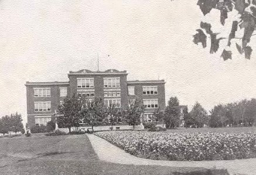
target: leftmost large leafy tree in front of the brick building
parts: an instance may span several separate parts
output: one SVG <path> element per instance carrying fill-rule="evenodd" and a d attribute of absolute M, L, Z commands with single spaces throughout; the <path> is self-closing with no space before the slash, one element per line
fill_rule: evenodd
<path fill-rule="evenodd" d="M 58 108 L 57 124 L 69 128 L 69 132 L 71 132 L 71 127 L 79 125 L 80 111 L 85 103 L 86 100 L 78 99 L 75 95 L 65 97 L 63 103 Z"/>

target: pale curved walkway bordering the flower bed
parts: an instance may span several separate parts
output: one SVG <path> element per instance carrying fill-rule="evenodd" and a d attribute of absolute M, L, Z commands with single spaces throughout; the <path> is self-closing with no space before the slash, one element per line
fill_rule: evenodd
<path fill-rule="evenodd" d="M 236 159 L 236 160 L 211 160 L 211 161 L 168 161 L 151 160 L 132 156 L 124 150 L 112 145 L 105 139 L 87 134 L 91 145 L 100 160 L 120 164 L 135 165 L 158 165 L 172 167 L 204 167 L 207 169 L 227 169 L 230 174 L 256 174 L 256 159 Z"/>

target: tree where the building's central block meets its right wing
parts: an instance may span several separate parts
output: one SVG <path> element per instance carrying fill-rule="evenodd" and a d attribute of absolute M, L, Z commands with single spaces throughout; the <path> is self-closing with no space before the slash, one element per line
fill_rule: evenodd
<path fill-rule="evenodd" d="M 129 125 L 139 124 L 141 121 L 141 115 L 144 113 L 144 105 L 141 100 L 129 100 L 128 108 L 125 112 L 125 121 L 129 123 Z"/>

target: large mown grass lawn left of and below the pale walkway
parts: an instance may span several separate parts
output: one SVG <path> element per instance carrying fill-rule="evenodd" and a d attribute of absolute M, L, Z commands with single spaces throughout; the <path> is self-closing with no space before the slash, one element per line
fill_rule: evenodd
<path fill-rule="evenodd" d="M 95 154 L 87 135 L 33 134 L 31 137 L 0 139 L 0 174 L 196 175 L 211 173 L 202 168 L 134 166 L 103 162 Z M 221 173 L 216 170 L 213 174 Z"/>

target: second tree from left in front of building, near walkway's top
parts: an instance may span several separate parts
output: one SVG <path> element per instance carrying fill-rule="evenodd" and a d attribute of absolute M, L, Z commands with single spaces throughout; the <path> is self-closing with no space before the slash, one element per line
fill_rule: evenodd
<path fill-rule="evenodd" d="M 93 101 L 87 101 L 86 106 L 81 108 L 80 115 L 83 121 L 91 125 L 91 129 L 103 124 L 105 117 L 107 117 L 103 99 L 95 98 Z"/>

